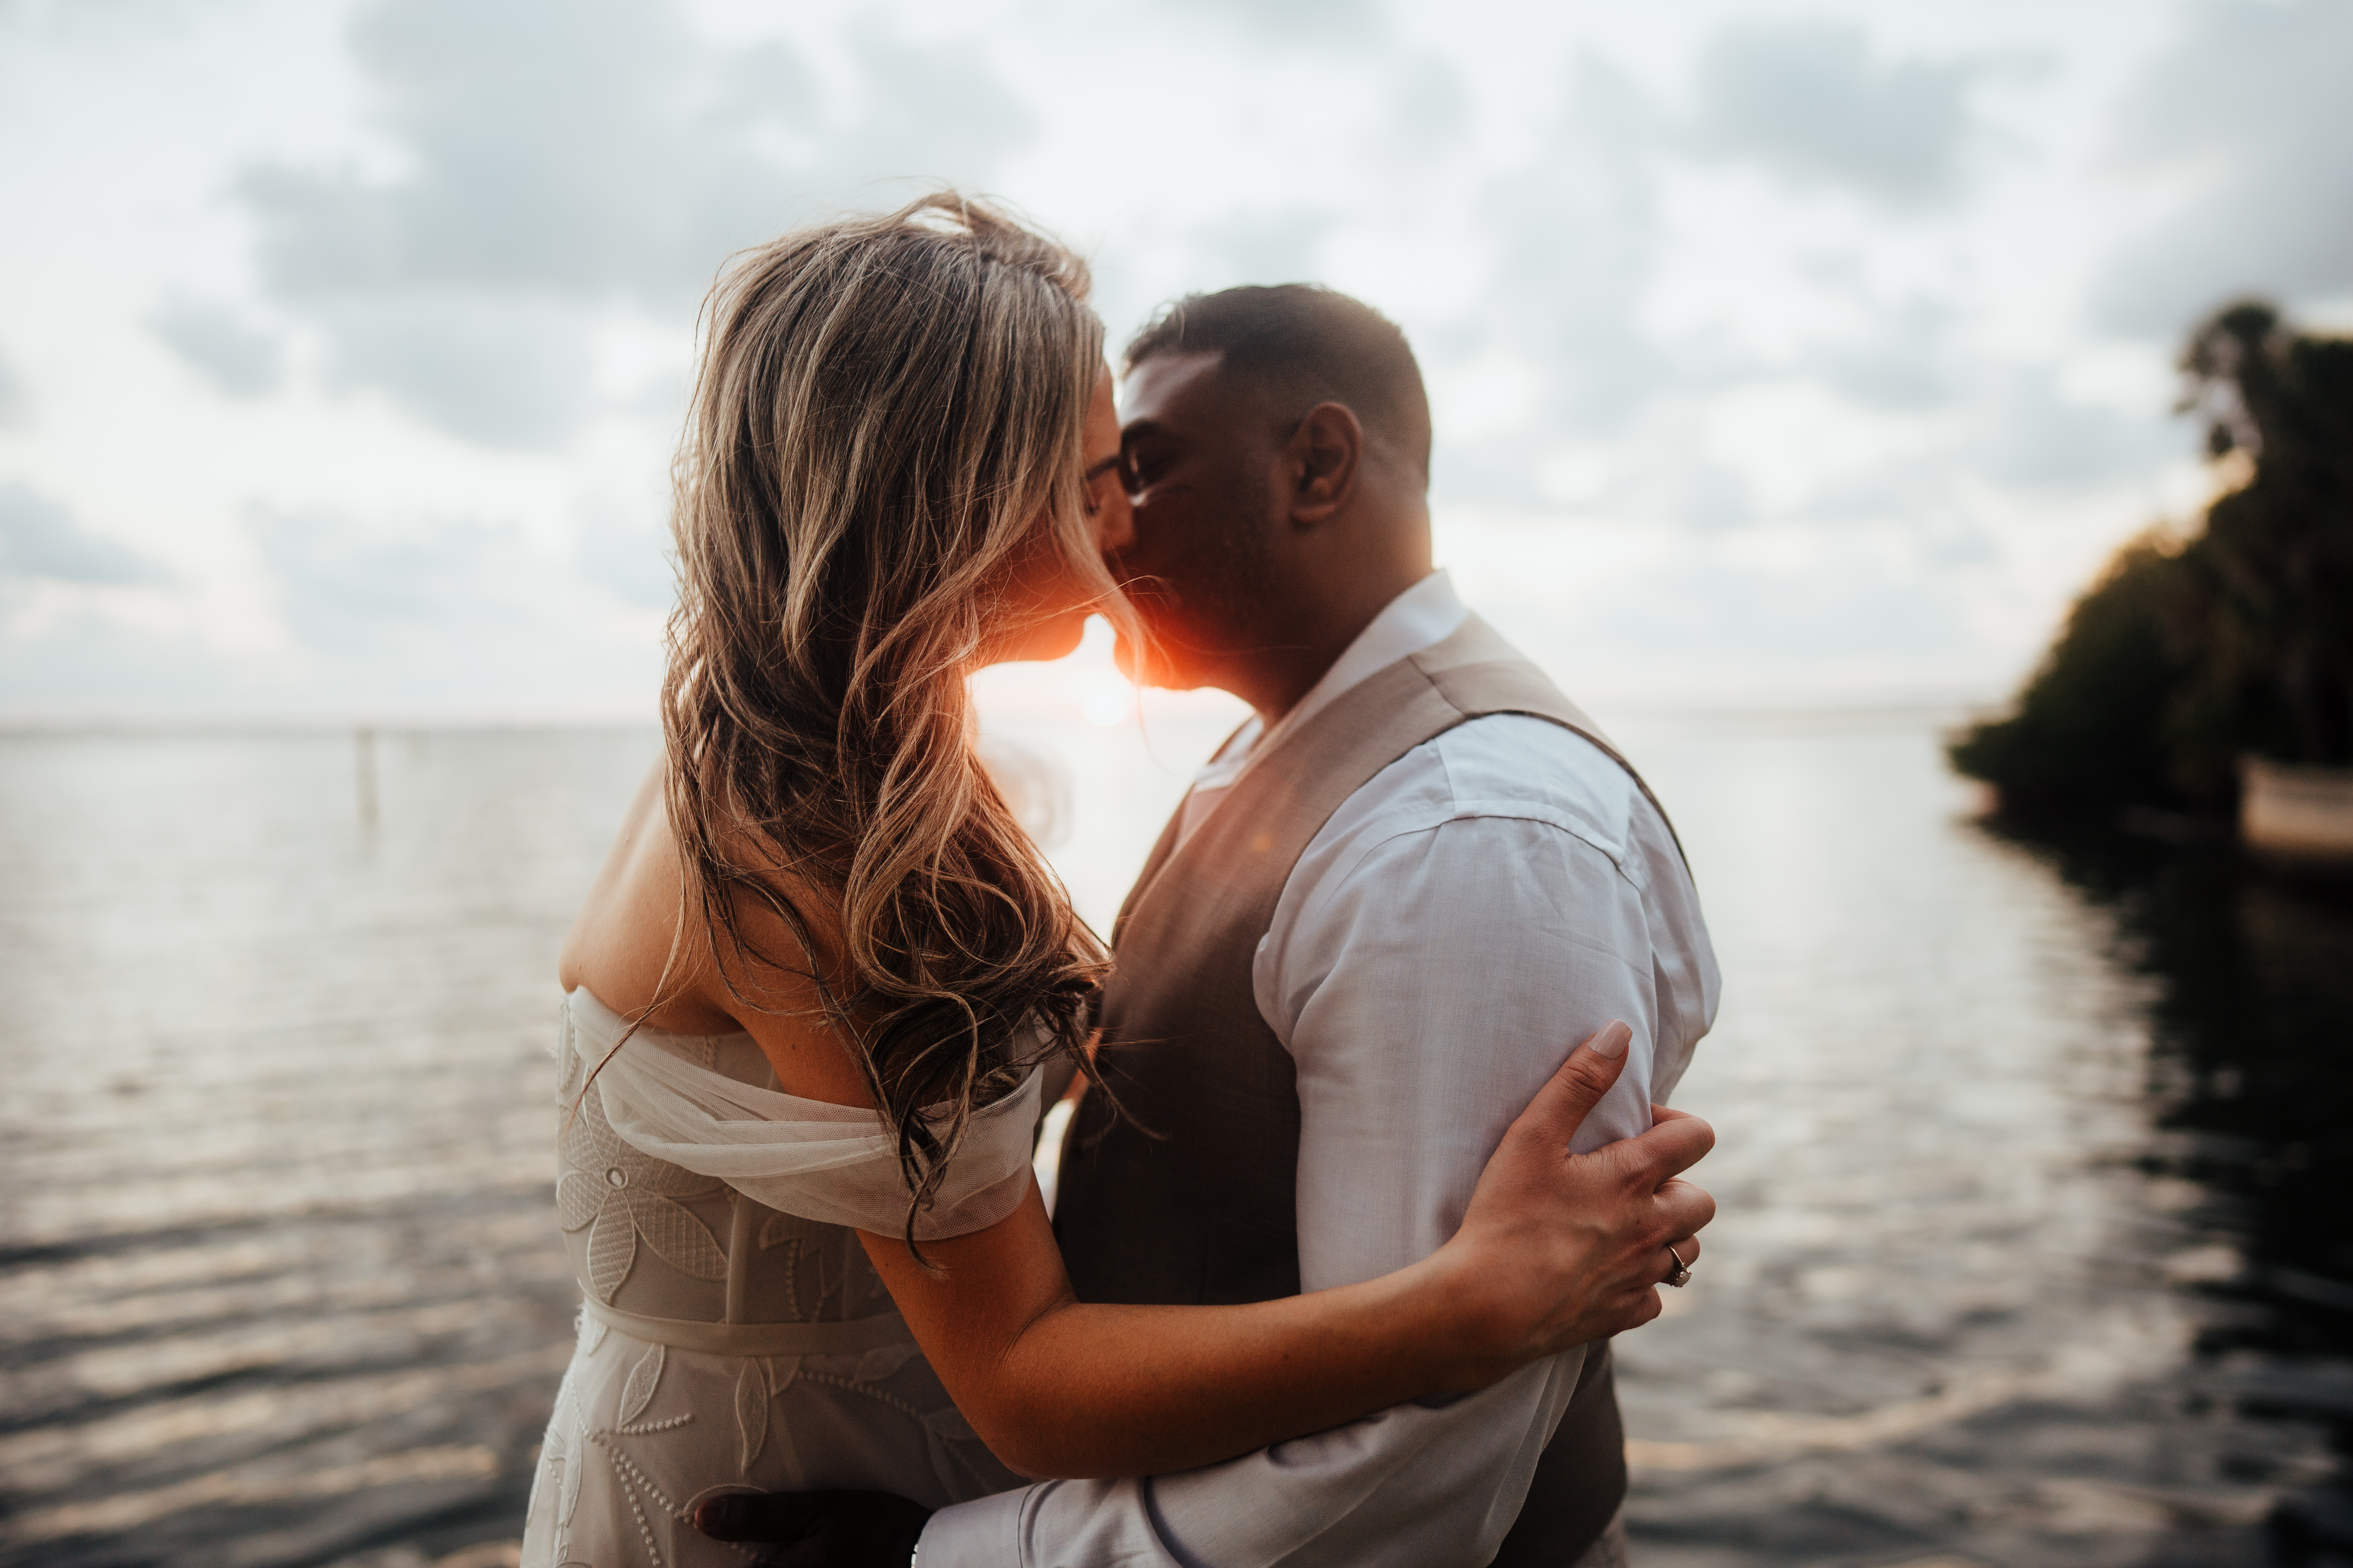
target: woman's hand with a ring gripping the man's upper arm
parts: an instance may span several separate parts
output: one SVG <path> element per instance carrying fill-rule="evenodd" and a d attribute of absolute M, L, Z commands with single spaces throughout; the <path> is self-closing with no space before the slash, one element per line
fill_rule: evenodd
<path fill-rule="evenodd" d="M 1654 1126 L 1640 1138 L 1569 1154 L 1626 1070 L 1631 1039 L 1612 1023 L 1569 1051 L 1504 1133 L 1461 1229 L 1431 1260 L 1454 1272 L 1466 1347 L 1478 1347 L 1464 1387 L 1647 1324 L 1675 1255 L 1699 1258 L 1697 1232 L 1715 1218 L 1715 1199 L 1680 1173 L 1715 1147 L 1715 1128 L 1652 1105 Z"/>

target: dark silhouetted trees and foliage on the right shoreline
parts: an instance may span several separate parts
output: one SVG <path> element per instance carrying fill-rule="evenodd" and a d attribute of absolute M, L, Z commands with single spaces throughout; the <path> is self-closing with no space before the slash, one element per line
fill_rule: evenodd
<path fill-rule="evenodd" d="M 1953 741 L 2012 809 L 2217 809 L 2245 752 L 2353 764 L 2353 341 L 2238 303 L 2181 369 L 2245 482 L 2179 550 L 2127 545 L 2017 712 Z"/>

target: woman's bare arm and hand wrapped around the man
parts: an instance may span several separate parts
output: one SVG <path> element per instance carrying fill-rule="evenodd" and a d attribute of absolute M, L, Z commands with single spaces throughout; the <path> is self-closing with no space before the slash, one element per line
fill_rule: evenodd
<path fill-rule="evenodd" d="M 1028 1476 L 1193 1469 L 1372 1410 L 1473 1389 L 1659 1314 L 1666 1244 L 1713 1218 L 1675 1180 L 1713 1145 L 1694 1117 L 1567 1154 L 1624 1067 L 1609 1025 L 1546 1084 L 1487 1164 L 1461 1232 L 1381 1279 L 1238 1307 L 1082 1305 L 1038 1192 L 969 1237 L 861 1232 L 955 1406 Z"/>

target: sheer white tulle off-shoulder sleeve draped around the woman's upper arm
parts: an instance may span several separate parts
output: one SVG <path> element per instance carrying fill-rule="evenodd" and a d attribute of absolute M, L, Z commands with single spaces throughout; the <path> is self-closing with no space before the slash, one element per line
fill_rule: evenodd
<path fill-rule="evenodd" d="M 715 1175 L 769 1208 L 896 1237 L 908 1190 L 882 1119 L 852 1105 L 802 1100 L 699 1067 L 659 1041 L 631 1037 L 598 1072 L 612 1131 L 635 1150 Z M 1040 1074 L 972 1112 L 962 1147 L 915 1239 L 988 1229 L 1028 1194 Z"/>

